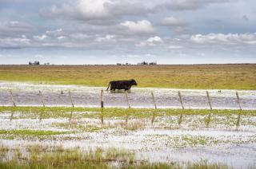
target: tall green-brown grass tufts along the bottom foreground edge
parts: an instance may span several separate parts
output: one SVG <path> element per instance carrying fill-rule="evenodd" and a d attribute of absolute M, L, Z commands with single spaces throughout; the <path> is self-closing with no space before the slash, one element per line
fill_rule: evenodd
<path fill-rule="evenodd" d="M 134 158 L 134 152 L 125 149 L 97 147 L 94 151 L 81 151 L 79 148 L 34 146 L 29 151 L 16 151 L 10 160 L 0 159 L 0 168 L 228 168 L 222 163 L 207 163 L 201 160 L 194 163 L 149 163 Z M 13 150 L 12 150 L 13 151 Z M 5 151 L 7 153 L 8 151 Z M 23 155 L 29 154 L 29 155 Z M 22 160 L 21 160 L 22 159 Z"/>

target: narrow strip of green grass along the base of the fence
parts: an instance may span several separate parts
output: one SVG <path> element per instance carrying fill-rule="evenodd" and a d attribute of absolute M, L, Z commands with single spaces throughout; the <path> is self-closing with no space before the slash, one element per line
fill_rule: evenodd
<path fill-rule="evenodd" d="M 0 107 L 1 112 L 14 112 L 15 118 L 70 118 L 70 112 L 73 111 L 73 118 L 122 118 L 126 119 L 127 116 L 130 118 L 150 118 L 153 115 L 157 116 L 174 116 L 180 115 L 208 115 L 210 110 L 208 109 L 152 109 L 152 108 L 66 108 L 66 107 Z M 24 112 L 22 116 L 15 117 L 15 112 Z M 82 113 L 77 113 L 82 112 Z M 86 113 L 94 112 L 94 113 Z M 211 113 L 214 115 L 251 115 L 256 116 L 256 110 L 212 110 Z"/>

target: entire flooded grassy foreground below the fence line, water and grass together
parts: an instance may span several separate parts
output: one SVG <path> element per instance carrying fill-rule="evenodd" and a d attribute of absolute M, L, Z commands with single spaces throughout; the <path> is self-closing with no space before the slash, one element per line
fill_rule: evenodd
<path fill-rule="evenodd" d="M 255 118 L 248 110 L 0 107 L 0 168 L 255 168 Z"/>

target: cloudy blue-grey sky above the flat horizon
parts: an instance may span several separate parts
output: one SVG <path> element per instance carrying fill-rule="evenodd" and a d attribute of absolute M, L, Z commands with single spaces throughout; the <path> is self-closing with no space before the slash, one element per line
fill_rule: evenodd
<path fill-rule="evenodd" d="M 0 64 L 256 63 L 254 0 L 0 0 Z"/>

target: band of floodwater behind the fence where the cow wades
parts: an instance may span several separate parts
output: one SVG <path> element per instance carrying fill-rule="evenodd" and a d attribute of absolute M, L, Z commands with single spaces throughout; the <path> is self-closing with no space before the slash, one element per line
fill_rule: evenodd
<path fill-rule="evenodd" d="M 10 90 L 12 91 L 13 98 Z M 78 85 L 35 85 L 18 82 L 0 82 L 0 105 L 10 106 L 71 106 L 100 107 L 101 90 L 104 107 L 127 108 L 210 108 L 213 109 L 256 109 L 256 90 L 206 90 L 176 88 L 132 88 L 128 92 L 110 92 L 101 87 Z M 41 91 L 42 95 L 39 93 Z M 182 104 L 178 91 L 181 93 Z M 154 93 L 154 99 L 152 96 Z M 14 103 L 13 103 L 14 102 Z"/>

